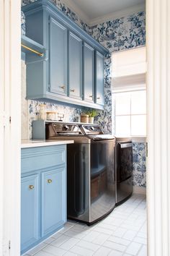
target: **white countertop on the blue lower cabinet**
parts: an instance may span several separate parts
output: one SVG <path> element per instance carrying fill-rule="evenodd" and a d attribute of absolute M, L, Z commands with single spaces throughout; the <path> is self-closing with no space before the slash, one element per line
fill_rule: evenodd
<path fill-rule="evenodd" d="M 22 140 L 21 148 L 46 147 L 53 145 L 72 144 L 73 140 Z"/>

